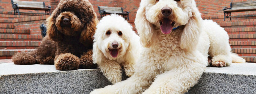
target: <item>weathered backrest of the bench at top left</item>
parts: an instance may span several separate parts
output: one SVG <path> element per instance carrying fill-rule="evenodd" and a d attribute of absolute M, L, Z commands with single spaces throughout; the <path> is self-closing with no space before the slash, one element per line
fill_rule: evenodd
<path fill-rule="evenodd" d="M 13 0 L 13 4 L 18 4 L 18 7 L 44 8 L 44 2 Z"/>

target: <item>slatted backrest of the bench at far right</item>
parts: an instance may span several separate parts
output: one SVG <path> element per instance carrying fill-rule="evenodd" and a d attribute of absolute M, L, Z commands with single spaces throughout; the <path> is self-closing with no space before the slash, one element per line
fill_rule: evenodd
<path fill-rule="evenodd" d="M 232 9 L 256 9 L 256 1 L 234 2 Z"/>

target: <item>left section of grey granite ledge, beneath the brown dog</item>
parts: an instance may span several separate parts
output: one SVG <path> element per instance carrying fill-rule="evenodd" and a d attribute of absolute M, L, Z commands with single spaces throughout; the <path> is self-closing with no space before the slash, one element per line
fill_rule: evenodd
<path fill-rule="evenodd" d="M 58 71 L 54 65 L 0 64 L 0 94 L 88 94 L 109 84 L 99 69 Z"/>

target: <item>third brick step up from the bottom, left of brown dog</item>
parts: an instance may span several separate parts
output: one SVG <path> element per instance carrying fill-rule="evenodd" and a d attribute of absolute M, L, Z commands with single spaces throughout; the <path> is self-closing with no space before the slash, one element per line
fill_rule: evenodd
<path fill-rule="evenodd" d="M 9 41 L 8 39 L 37 39 L 41 40 L 42 36 L 41 35 L 24 35 L 24 34 L 0 34 L 0 41 Z M 36 40 L 36 41 L 37 41 Z"/>

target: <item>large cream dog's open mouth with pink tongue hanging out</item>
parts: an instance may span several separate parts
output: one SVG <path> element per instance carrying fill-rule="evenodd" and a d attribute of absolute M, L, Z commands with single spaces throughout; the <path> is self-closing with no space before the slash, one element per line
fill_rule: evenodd
<path fill-rule="evenodd" d="M 163 34 L 170 34 L 172 32 L 175 22 L 170 20 L 169 18 L 163 18 L 159 21 L 159 24 Z"/>

